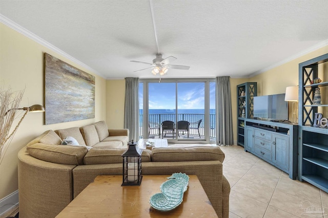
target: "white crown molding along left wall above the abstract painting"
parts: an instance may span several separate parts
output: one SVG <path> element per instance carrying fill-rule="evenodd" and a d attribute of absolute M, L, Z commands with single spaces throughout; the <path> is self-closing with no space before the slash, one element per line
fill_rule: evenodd
<path fill-rule="evenodd" d="M 32 39 L 33 41 L 39 43 L 40 45 L 58 53 L 61 56 L 64 56 L 65 58 L 77 63 L 79 66 L 88 69 L 89 71 L 97 74 L 98 76 L 101 76 L 105 79 L 104 75 L 101 75 L 99 72 L 94 70 L 93 68 L 90 68 L 87 64 L 77 60 L 76 58 L 72 57 L 71 55 L 67 54 L 66 52 L 58 49 L 48 41 L 44 40 L 43 38 L 40 38 L 39 36 L 35 35 L 34 33 L 30 32 L 29 30 L 25 29 L 24 27 L 16 24 L 14 21 L 9 19 L 8 17 L 4 16 L 3 14 L 0 13 L 0 23 L 3 23 L 4 25 L 10 27 L 11 29 L 19 32 L 20 34 L 23 34 L 27 36 L 28 38 Z"/>

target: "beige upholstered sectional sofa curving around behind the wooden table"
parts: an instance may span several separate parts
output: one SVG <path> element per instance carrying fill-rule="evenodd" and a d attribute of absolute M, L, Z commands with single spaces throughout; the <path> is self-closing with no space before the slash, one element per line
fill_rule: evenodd
<path fill-rule="evenodd" d="M 62 145 L 68 136 L 78 145 Z M 128 136 L 128 129 L 108 129 L 99 121 L 47 130 L 32 140 L 18 152 L 19 217 L 55 217 L 96 176 L 121 175 Z M 228 217 L 230 185 L 222 175 L 223 160 L 219 147 L 146 149 L 142 174 L 197 175 L 218 217 Z"/>

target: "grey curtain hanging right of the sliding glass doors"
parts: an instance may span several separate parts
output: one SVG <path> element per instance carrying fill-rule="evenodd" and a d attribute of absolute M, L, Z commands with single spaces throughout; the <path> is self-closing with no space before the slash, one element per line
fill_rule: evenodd
<path fill-rule="evenodd" d="M 230 77 L 216 77 L 216 144 L 233 145 Z"/>

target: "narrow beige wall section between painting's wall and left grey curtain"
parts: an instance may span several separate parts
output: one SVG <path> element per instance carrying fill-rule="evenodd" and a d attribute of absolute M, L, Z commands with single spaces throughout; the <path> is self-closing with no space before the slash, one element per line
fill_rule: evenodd
<path fill-rule="evenodd" d="M 108 128 L 124 128 L 125 79 L 107 80 Z"/>

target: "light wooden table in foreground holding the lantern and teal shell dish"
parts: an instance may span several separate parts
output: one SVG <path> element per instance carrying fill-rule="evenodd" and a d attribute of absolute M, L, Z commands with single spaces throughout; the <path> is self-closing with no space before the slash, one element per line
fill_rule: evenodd
<path fill-rule="evenodd" d="M 169 176 L 143 176 L 140 186 L 121 186 L 122 176 L 98 176 L 56 217 L 218 217 L 193 175 L 177 208 L 168 212 L 153 209 L 150 197 L 160 192 L 159 186 Z"/>

